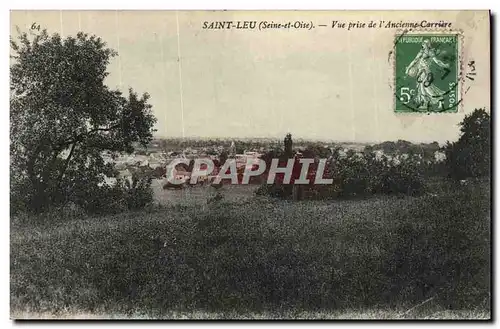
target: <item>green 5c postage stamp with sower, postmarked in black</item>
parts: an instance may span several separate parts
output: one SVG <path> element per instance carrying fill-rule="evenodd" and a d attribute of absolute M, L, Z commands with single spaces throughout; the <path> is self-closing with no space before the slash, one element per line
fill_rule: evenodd
<path fill-rule="evenodd" d="M 461 102 L 460 35 L 407 33 L 395 39 L 396 113 L 456 113 Z"/>

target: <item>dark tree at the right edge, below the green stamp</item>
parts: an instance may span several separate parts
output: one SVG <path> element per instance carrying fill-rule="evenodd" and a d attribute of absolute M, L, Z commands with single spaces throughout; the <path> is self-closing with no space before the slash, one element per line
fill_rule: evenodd
<path fill-rule="evenodd" d="M 460 122 L 460 138 L 444 146 L 446 167 L 451 177 L 486 177 L 490 175 L 490 115 L 476 109 Z"/>

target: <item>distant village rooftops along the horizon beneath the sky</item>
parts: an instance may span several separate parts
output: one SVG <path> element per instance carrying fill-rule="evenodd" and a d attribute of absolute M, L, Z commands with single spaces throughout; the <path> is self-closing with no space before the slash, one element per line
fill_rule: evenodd
<path fill-rule="evenodd" d="M 414 144 L 407 141 L 383 142 L 380 144 L 366 143 L 333 143 L 333 142 L 310 142 L 301 141 L 295 143 L 294 149 L 300 154 L 311 144 L 317 148 L 324 148 L 333 152 L 337 149 L 340 154 L 354 151 L 361 154 L 364 150 L 374 151 L 377 156 L 390 155 L 395 161 L 407 157 L 408 149 L 417 150 L 422 161 L 441 162 L 445 155 L 440 151 L 439 144 L 421 143 Z M 180 140 L 180 139 L 155 139 L 146 148 L 137 147 L 131 154 L 112 156 L 105 154 L 104 159 L 108 163 L 114 163 L 117 171 L 116 177 L 106 177 L 107 184 L 116 183 L 117 178 L 130 179 L 134 174 L 150 174 L 155 180 L 165 180 L 166 166 L 174 159 L 211 159 L 218 162 L 223 157 L 232 158 L 236 162 L 238 171 L 244 169 L 248 164 L 257 163 L 267 152 L 279 148 L 280 141 L 272 140 Z M 340 150 L 339 150 L 340 148 Z M 420 152 L 421 150 L 421 152 Z M 177 170 L 176 176 L 180 179 L 189 179 L 190 172 L 187 167 Z"/>

